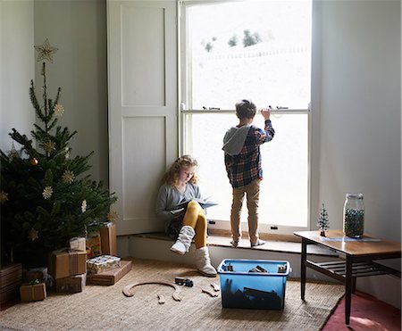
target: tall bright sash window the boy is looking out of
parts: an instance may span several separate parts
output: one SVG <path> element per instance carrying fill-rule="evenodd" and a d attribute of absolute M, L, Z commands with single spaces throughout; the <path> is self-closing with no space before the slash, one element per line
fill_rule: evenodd
<path fill-rule="evenodd" d="M 219 203 L 208 211 L 211 227 L 230 228 L 222 138 L 238 123 L 234 104 L 246 98 L 272 106 L 276 131 L 261 146 L 260 231 L 308 228 L 312 2 L 181 4 L 182 152 L 197 158 L 203 195 Z M 264 127 L 263 117 L 254 123 Z"/>

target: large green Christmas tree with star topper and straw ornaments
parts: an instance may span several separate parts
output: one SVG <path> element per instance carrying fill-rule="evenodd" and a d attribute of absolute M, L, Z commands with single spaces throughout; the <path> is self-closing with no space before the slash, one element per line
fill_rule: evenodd
<path fill-rule="evenodd" d="M 47 39 L 35 46 L 38 61 L 53 62 L 57 48 Z M 2 262 L 24 265 L 46 263 L 47 254 L 69 246 L 71 237 L 85 236 L 99 229 L 106 219 L 115 220 L 110 211 L 117 200 L 103 183 L 86 175 L 91 166 L 86 156 L 70 157 L 71 138 L 77 131 L 57 126 L 64 108 L 60 103 L 61 88 L 54 100 L 47 97 L 46 62 L 42 63 L 42 98 L 38 102 L 31 80 L 29 97 L 37 115 L 30 132 L 33 139 L 15 128 L 9 134 L 13 147 L 9 153 L 0 150 L 1 161 L 1 248 Z M 17 151 L 14 142 L 21 145 Z"/>

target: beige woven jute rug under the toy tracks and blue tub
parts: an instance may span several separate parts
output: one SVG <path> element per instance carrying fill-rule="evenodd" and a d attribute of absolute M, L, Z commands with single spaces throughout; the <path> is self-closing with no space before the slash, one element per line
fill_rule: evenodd
<path fill-rule="evenodd" d="M 193 287 L 140 285 L 126 297 L 126 285 L 144 281 L 174 282 L 188 277 Z M 133 260 L 129 274 L 112 286 L 87 285 L 79 294 L 49 294 L 42 302 L 20 303 L 0 311 L 0 329 L 13 330 L 320 330 L 344 294 L 342 285 L 307 283 L 306 301 L 300 283 L 287 280 L 284 310 L 222 309 L 221 293 L 201 291 L 220 285 L 219 277 L 202 277 L 191 266 Z M 165 302 L 158 303 L 158 294 Z"/>

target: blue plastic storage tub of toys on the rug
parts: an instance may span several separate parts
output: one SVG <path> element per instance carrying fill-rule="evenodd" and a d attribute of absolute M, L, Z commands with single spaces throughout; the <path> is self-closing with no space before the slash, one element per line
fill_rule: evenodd
<path fill-rule="evenodd" d="M 222 308 L 283 310 L 289 261 L 223 260 Z"/>

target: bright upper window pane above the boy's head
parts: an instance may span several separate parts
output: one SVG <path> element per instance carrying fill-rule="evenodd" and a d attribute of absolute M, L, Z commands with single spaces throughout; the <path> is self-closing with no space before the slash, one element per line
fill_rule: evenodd
<path fill-rule="evenodd" d="M 194 5 L 187 19 L 189 108 L 307 108 L 311 1 Z"/>

